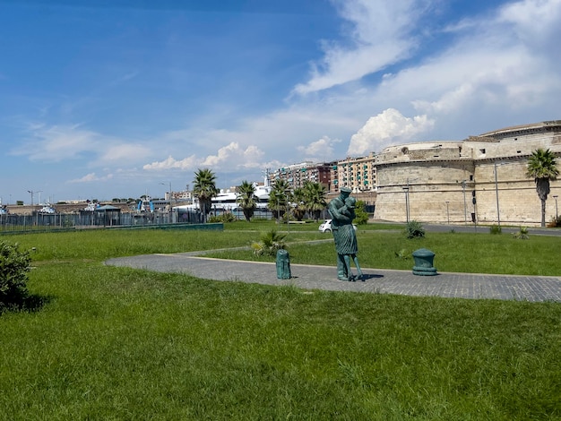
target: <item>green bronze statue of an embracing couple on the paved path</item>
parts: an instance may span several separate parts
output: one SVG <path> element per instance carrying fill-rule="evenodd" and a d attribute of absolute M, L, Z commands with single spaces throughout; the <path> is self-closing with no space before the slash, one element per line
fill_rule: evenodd
<path fill-rule="evenodd" d="M 332 216 L 332 233 L 337 251 L 337 278 L 340 280 L 356 280 L 350 271 L 350 259 L 357 266 L 358 279 L 363 273 L 358 265 L 357 233 L 352 225 L 355 214 L 356 199 L 350 197 L 350 188 L 341 187 L 338 197 L 329 202 L 328 211 Z"/>

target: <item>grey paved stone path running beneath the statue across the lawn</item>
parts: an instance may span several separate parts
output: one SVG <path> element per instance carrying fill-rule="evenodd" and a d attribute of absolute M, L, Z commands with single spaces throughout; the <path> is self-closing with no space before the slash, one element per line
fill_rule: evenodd
<path fill-rule="evenodd" d="M 275 263 L 243 262 L 203 257 L 201 253 L 146 254 L 109 259 L 109 266 L 160 272 L 186 273 L 196 278 L 292 285 L 303 289 L 324 289 L 403 296 L 443 296 L 501 300 L 561 302 L 561 277 L 487 275 L 438 272 L 417 276 L 412 271 L 362 268 L 365 281 L 337 279 L 330 266 L 291 264 L 291 279 L 277 279 Z M 412 269 L 412 268 L 411 268 Z M 356 273 L 353 267 L 353 272 Z"/>

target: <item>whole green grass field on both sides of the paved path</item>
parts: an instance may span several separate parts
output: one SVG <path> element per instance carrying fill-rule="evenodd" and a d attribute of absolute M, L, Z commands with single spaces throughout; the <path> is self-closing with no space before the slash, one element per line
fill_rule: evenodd
<path fill-rule="evenodd" d="M 102 264 L 248 245 L 272 227 L 2 237 L 35 247 L 40 305 L 0 316 L 0 419 L 561 419 L 559 303 L 303 291 Z M 302 243 L 329 235 L 292 228 L 292 261 L 333 264 L 332 243 Z M 365 266 L 410 269 L 403 256 L 427 247 L 442 271 L 561 273 L 555 237 L 380 231 L 358 231 Z"/>

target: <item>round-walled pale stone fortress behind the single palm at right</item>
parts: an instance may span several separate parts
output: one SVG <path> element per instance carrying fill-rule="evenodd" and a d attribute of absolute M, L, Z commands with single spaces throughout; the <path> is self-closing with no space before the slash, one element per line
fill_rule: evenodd
<path fill-rule="evenodd" d="M 528 158 L 554 152 L 561 169 L 561 120 L 518 125 L 463 141 L 413 142 L 375 156 L 375 219 L 539 226 L 541 204 Z M 551 182 L 546 221 L 557 214 Z"/>

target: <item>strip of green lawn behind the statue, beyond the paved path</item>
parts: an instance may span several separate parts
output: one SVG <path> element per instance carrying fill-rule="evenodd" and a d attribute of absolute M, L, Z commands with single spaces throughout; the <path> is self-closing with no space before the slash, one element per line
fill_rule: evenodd
<path fill-rule="evenodd" d="M 382 227 L 383 229 L 376 229 Z M 286 228 L 282 231 L 287 234 Z M 314 225 L 311 228 L 316 228 Z M 358 257 L 361 266 L 377 269 L 410 270 L 411 253 L 427 248 L 434 253 L 438 271 L 468 273 L 501 273 L 518 275 L 560 276 L 561 236 L 531 236 L 518 240 L 508 234 L 427 233 L 425 238 L 408 240 L 397 226 L 361 226 L 358 228 Z M 262 228 L 265 230 L 265 227 Z M 255 237 L 255 236 L 254 236 Z M 258 238 L 257 238 L 258 239 Z M 324 242 L 310 244 L 311 239 Z M 292 231 L 286 236 L 290 262 L 304 264 L 335 264 L 331 233 L 315 233 L 310 228 Z M 256 260 L 251 250 L 223 251 L 211 257 Z M 273 261 L 274 256 L 261 261 Z"/>

